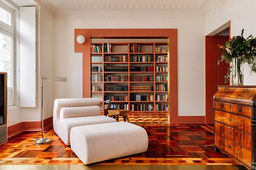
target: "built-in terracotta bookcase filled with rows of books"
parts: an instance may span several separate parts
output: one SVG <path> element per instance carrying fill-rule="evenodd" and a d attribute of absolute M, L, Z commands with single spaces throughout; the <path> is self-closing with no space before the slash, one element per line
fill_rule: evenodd
<path fill-rule="evenodd" d="M 92 43 L 91 97 L 102 108 L 168 111 L 168 44 Z"/>

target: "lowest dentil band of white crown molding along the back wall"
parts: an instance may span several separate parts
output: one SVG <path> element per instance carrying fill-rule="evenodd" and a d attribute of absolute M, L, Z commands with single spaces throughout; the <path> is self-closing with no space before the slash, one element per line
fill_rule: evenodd
<path fill-rule="evenodd" d="M 204 13 L 55 13 L 55 18 L 204 18 Z"/>

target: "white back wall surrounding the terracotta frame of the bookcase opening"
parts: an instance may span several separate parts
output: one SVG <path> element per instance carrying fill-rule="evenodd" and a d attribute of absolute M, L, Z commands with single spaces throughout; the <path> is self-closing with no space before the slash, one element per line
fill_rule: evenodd
<path fill-rule="evenodd" d="M 82 97 L 82 54 L 74 52 L 75 28 L 178 28 L 179 115 L 204 116 L 204 26 L 204 18 L 57 15 L 53 27 L 54 74 L 67 77 L 67 82 L 55 83 L 55 98 Z"/>

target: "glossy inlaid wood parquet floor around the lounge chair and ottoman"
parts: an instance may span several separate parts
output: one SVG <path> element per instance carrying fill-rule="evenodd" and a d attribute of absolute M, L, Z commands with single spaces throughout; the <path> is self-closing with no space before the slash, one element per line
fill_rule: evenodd
<path fill-rule="evenodd" d="M 198 124 L 140 124 L 149 135 L 145 153 L 95 164 L 237 164 L 213 150 L 213 127 Z M 35 144 L 40 132 L 24 132 L 0 146 L 0 164 L 83 164 L 53 128 L 45 131 L 49 144 Z"/>

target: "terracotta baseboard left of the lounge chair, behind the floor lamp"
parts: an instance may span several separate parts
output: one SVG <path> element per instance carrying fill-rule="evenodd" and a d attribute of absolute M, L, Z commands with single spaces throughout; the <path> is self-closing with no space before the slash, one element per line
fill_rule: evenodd
<path fill-rule="evenodd" d="M 43 120 L 43 128 L 52 126 L 52 117 Z M 22 132 L 41 131 L 41 122 L 20 122 L 7 127 L 7 138 L 13 137 Z"/>

